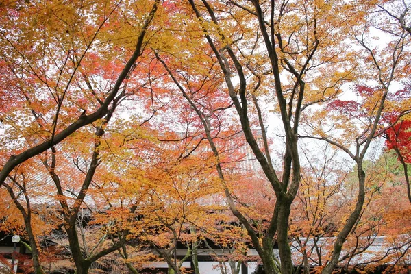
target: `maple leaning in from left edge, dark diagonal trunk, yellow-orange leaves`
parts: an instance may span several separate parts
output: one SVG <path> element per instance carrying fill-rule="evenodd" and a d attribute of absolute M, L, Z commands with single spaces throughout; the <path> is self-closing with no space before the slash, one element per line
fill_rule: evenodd
<path fill-rule="evenodd" d="M 58 5 L 58 3 L 55 3 L 55 5 Z M 17 90 L 18 92 L 21 92 L 21 96 L 18 96 L 18 99 L 14 99 L 13 97 L 16 97 L 15 93 L 12 93 L 13 97 L 10 97 L 6 90 L 2 90 L 2 92 L 4 92 L 2 94 L 2 98 L 12 99 L 11 101 L 14 102 L 14 105 L 3 104 L 3 108 L 5 109 L 1 111 L 3 116 L 2 120 L 3 123 L 5 123 L 6 121 L 10 123 L 9 128 L 12 128 L 13 124 L 17 121 L 23 122 L 26 121 L 26 119 L 28 119 L 27 121 L 32 121 L 32 119 L 29 119 L 27 116 L 23 115 L 27 113 L 28 110 L 29 115 L 34 116 L 34 119 L 36 119 L 33 125 L 38 125 L 38 127 L 40 128 L 30 129 L 30 127 L 27 128 L 23 125 L 18 124 L 14 125 L 14 128 L 17 131 L 21 131 L 21 129 L 27 128 L 27 134 L 29 136 L 32 134 L 36 134 L 36 136 L 39 135 L 40 140 L 33 140 L 32 142 L 30 142 L 32 143 L 32 147 L 29 147 L 28 149 L 21 147 L 21 151 L 16 151 L 18 153 L 17 155 L 10 154 L 10 159 L 3 165 L 3 169 L 1 170 L 1 182 L 4 181 L 5 177 L 7 177 L 12 169 L 14 169 L 14 167 L 16 167 L 18 164 L 21 164 L 25 160 L 32 158 L 35 155 L 46 151 L 47 149 L 50 149 L 53 145 L 58 144 L 59 142 L 64 140 L 64 138 L 75 132 L 75 130 L 83 127 L 84 125 L 88 125 L 94 121 L 97 121 L 98 119 L 101 119 L 107 113 L 110 103 L 112 103 L 117 92 L 119 92 L 123 81 L 127 77 L 129 71 L 131 71 L 134 62 L 136 62 L 138 58 L 138 55 L 140 55 L 142 40 L 144 38 L 145 32 L 147 31 L 150 20 L 148 20 L 146 25 L 142 28 L 143 31 L 140 34 L 140 39 L 138 39 L 136 50 L 134 51 L 132 58 L 130 58 L 128 60 L 129 62 L 127 62 L 127 64 L 124 66 L 124 69 L 121 70 L 121 74 L 116 79 L 113 88 L 104 99 L 99 99 L 97 97 L 97 101 L 99 101 L 101 105 L 95 108 L 95 110 L 90 109 L 89 112 L 92 112 L 91 114 L 86 114 L 86 112 L 84 112 L 86 110 L 83 109 L 83 115 L 81 115 L 82 112 L 79 112 L 78 114 L 73 112 L 64 112 L 68 119 L 60 117 L 60 110 L 63 106 L 63 103 L 65 103 L 66 100 L 69 100 L 70 102 L 73 99 L 77 99 L 77 95 L 69 94 L 71 87 L 74 85 L 74 76 L 79 74 L 77 73 L 77 71 L 82 64 L 83 58 L 85 57 L 86 53 L 91 50 L 90 47 L 92 46 L 93 42 L 95 42 L 97 34 L 99 34 L 99 31 L 105 25 L 106 21 L 108 21 L 108 18 L 110 17 L 112 12 L 116 10 L 118 5 L 119 4 L 115 4 L 111 9 L 108 6 L 108 10 L 103 10 L 101 17 L 97 16 L 97 18 L 95 18 L 97 22 L 95 23 L 95 25 L 92 25 L 92 28 L 88 31 L 88 35 L 84 37 L 84 40 L 82 40 L 85 45 L 77 45 L 77 43 L 71 39 L 79 39 L 81 37 L 77 35 L 79 34 L 79 32 L 82 32 L 82 29 L 77 29 L 78 25 L 80 25 L 80 22 L 78 22 L 78 25 L 76 25 L 77 22 L 75 21 L 80 19 L 81 17 L 77 18 L 74 16 L 74 18 L 71 18 L 73 21 L 67 23 L 67 26 L 65 24 L 58 23 L 58 21 L 61 20 L 58 14 L 56 14 L 56 16 L 50 16 L 49 21 L 45 20 L 45 18 L 47 18 L 47 14 L 51 13 L 53 11 L 53 8 L 60 8 L 60 12 L 63 12 L 64 8 L 66 8 L 68 12 L 70 8 L 73 8 L 72 10 L 70 10 L 70 12 L 71 14 L 75 15 L 75 8 L 79 8 L 81 10 L 81 8 L 83 8 L 81 5 L 79 7 L 70 7 L 66 5 L 60 5 L 57 7 L 53 7 L 53 5 L 51 5 L 48 7 L 47 5 L 36 6 L 24 5 L 23 3 L 18 3 L 17 6 L 13 6 L 10 3 L 10 7 L 8 7 L 7 5 L 5 7 L 2 7 L 2 23 L 4 29 L 7 29 L 7 31 L 2 30 L 1 42 L 3 43 L 5 49 L 8 49 L 7 51 L 4 51 L 5 54 L 2 55 L 2 66 L 7 70 L 9 75 L 12 75 L 12 79 L 14 79 L 13 82 L 8 81 L 7 83 L 14 84 L 12 88 Z M 88 6 L 87 8 L 93 7 Z M 38 16 L 29 16 L 29 14 L 38 14 L 39 16 L 44 16 L 44 14 L 46 14 L 46 16 L 38 18 Z M 86 16 L 81 19 L 87 20 L 87 18 L 85 17 Z M 21 19 L 21 21 L 18 21 L 18 19 Z M 51 40 L 51 45 L 49 45 L 49 47 L 47 47 L 47 44 L 42 45 L 42 39 L 39 39 L 37 37 L 38 35 L 44 33 L 42 27 L 27 29 L 27 25 L 36 23 L 36 21 L 42 21 L 42 23 L 44 23 L 44 27 L 60 26 L 62 29 L 53 29 L 54 34 L 61 34 L 65 32 L 67 33 L 71 31 L 72 35 L 68 35 L 69 39 L 67 39 L 68 41 L 66 43 L 68 45 L 63 44 L 60 45 L 60 47 L 58 47 L 58 45 L 53 47 L 52 44 L 53 42 L 55 42 L 53 40 Z M 16 24 L 15 22 L 18 22 L 20 25 Z M 72 29 L 65 29 L 65 27 L 71 27 Z M 23 35 L 18 31 L 19 29 L 27 29 L 27 31 L 29 32 Z M 54 37 L 53 33 L 50 33 L 49 36 L 51 38 Z M 45 42 L 49 41 L 45 40 Z M 64 46 L 68 48 L 66 49 Z M 71 46 L 75 46 L 75 48 L 71 48 Z M 78 49 L 77 46 L 79 47 Z M 39 52 L 36 52 L 36 50 Z M 65 53 L 62 54 L 62 60 L 55 60 L 54 51 L 58 50 L 62 51 L 62 53 Z M 46 61 L 46 59 L 44 58 L 44 55 L 46 53 L 48 55 L 51 55 L 51 57 L 49 58 L 50 64 L 43 64 Z M 24 60 L 24 62 L 18 62 L 17 60 Z M 40 64 L 43 64 L 43 66 L 39 67 Z M 57 68 L 53 66 L 54 64 L 56 64 Z M 59 67 L 60 64 L 62 65 L 61 67 Z M 13 65 L 16 66 L 16 68 L 14 68 Z M 27 75 L 25 74 L 26 71 L 28 72 Z M 57 75 L 49 75 L 48 73 L 57 73 Z M 55 79 L 53 79 L 53 77 L 55 77 Z M 65 77 L 64 80 L 62 79 L 62 77 Z M 50 78 L 53 79 L 53 82 L 51 82 Z M 27 84 L 31 84 L 31 82 L 33 83 L 32 87 L 26 86 Z M 43 101 L 36 101 L 35 105 L 31 105 L 31 101 L 36 100 L 36 97 L 39 96 L 36 95 L 36 88 L 38 88 L 39 90 L 41 88 L 45 88 L 43 95 L 47 95 L 47 90 L 49 90 L 50 95 L 49 97 L 45 97 Z M 8 88 L 7 90 L 10 90 L 10 88 Z M 31 91 L 32 93 L 25 94 L 25 92 L 28 91 Z M 81 97 L 78 99 L 81 99 Z M 39 104 L 40 102 L 42 102 L 41 105 Z M 40 108 L 38 110 L 34 108 L 34 106 L 46 107 L 46 103 L 50 104 L 49 108 Z M 21 108 L 25 105 L 29 106 L 29 108 L 23 109 L 26 110 L 26 112 L 18 112 L 18 107 Z M 75 110 L 78 111 L 79 109 L 82 109 L 82 105 L 76 105 L 76 103 L 74 103 L 74 105 Z M 20 115 L 20 119 L 18 120 L 14 119 L 13 116 L 8 116 L 14 112 L 13 107 L 16 110 L 14 115 Z M 84 107 L 86 106 L 84 105 Z M 42 113 L 42 111 L 45 111 L 45 113 Z M 61 110 L 61 112 L 63 111 Z M 45 120 L 49 118 L 48 116 L 51 116 L 51 119 Z M 45 125 L 45 123 L 47 123 L 47 125 Z M 42 127 L 45 128 L 43 129 Z M 17 136 L 21 135 L 22 134 L 18 134 Z"/>

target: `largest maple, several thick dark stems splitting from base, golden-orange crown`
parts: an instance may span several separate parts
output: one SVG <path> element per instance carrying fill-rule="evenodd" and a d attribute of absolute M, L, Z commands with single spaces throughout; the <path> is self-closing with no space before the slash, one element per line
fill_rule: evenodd
<path fill-rule="evenodd" d="M 189 5 L 192 17 L 195 16 L 192 21 L 195 21 L 196 26 L 201 26 L 203 37 L 208 42 L 207 48 L 202 46 L 204 40 L 197 40 L 199 47 L 206 47 L 203 49 L 206 54 L 203 55 L 203 58 L 196 58 L 196 60 L 210 60 L 208 68 L 213 70 L 214 64 L 218 62 L 219 74 L 221 79 L 225 81 L 221 90 L 226 90 L 226 94 L 232 100 L 226 105 L 234 105 L 238 114 L 236 119 L 239 120 L 245 138 L 260 162 L 266 179 L 270 182 L 276 196 L 276 199 L 273 199 L 275 208 L 269 218 L 271 222 L 261 236 L 256 233 L 247 216 L 238 209 L 232 192 L 226 187 L 227 201 L 233 214 L 247 229 L 253 247 L 262 258 L 264 271 L 266 273 L 279 271 L 277 262 L 273 260 L 273 238 L 277 235 L 281 273 L 290 273 L 293 266 L 288 245 L 288 216 L 290 205 L 297 194 L 300 183 L 301 166 L 297 142 L 301 111 L 308 105 L 335 97 L 340 92 L 340 85 L 351 73 L 350 68 L 346 71 L 330 69 L 333 64 L 345 64 L 346 61 L 333 53 L 337 48 L 344 51 L 339 44 L 341 41 L 335 36 L 335 40 L 328 40 L 330 29 L 334 29 L 333 35 L 345 32 L 345 25 L 336 21 L 335 18 L 339 18 L 339 16 L 334 14 L 344 10 L 344 7 L 340 7 L 336 3 L 323 3 L 322 1 L 312 3 L 312 5 L 302 1 L 293 3 L 286 1 L 283 3 L 259 3 L 258 1 L 251 3 L 237 1 L 195 3 L 195 1 L 189 1 Z M 229 18 L 225 16 L 227 7 Z M 331 9 L 333 12 L 330 12 Z M 269 10 L 271 12 L 267 12 Z M 266 14 L 270 14 L 269 19 L 266 19 Z M 334 14 L 334 20 L 327 18 L 329 14 Z M 344 18 L 342 20 L 349 18 L 349 14 L 341 14 L 341 16 Z M 299 17 L 301 22 L 297 23 Z M 231 18 L 233 21 L 230 22 Z M 186 37 L 184 36 L 184 38 Z M 247 40 L 251 37 L 252 42 L 242 42 L 243 37 L 247 37 Z M 192 37 L 192 39 L 195 38 L 197 37 Z M 260 42 L 265 47 L 258 47 Z M 303 50 L 301 51 L 301 49 Z M 209 57 L 209 51 L 212 52 L 212 58 Z M 329 66 L 325 69 L 327 65 Z M 182 69 L 186 68 L 180 67 L 178 70 Z M 211 69 L 208 70 L 211 71 Z M 183 86 L 171 69 L 168 69 L 168 72 L 185 99 L 197 112 L 206 130 L 214 156 L 219 160 L 221 153 L 213 140 L 212 130 L 214 128 L 208 118 L 216 115 L 214 110 L 219 110 L 219 108 L 216 105 L 208 107 L 207 112 L 203 111 L 203 105 L 197 106 L 194 93 L 188 92 L 194 92 L 190 88 L 192 85 L 190 79 L 184 79 Z M 304 80 L 307 78 L 314 82 L 310 77 L 315 77 L 316 72 L 329 76 L 325 82 L 315 82 L 321 85 L 319 90 L 308 88 Z M 288 81 L 282 81 L 282 73 L 288 74 Z M 184 75 L 190 75 L 190 73 L 184 73 Z M 325 75 L 322 75 L 321 79 L 324 79 Z M 272 81 L 271 85 L 265 84 L 265 82 L 270 81 Z M 276 98 L 275 110 L 281 116 L 286 136 L 284 138 L 285 152 L 282 173 L 276 173 L 272 164 L 267 146 L 263 114 L 256 96 L 258 92 L 266 92 L 269 96 L 270 91 L 270 96 L 272 96 L 270 98 Z M 303 103 L 304 100 L 306 103 Z M 251 110 L 255 113 L 253 116 Z M 253 125 L 260 126 L 264 144 L 261 147 L 258 146 L 256 137 L 253 135 L 251 129 Z M 221 162 L 218 162 L 216 168 L 221 182 L 227 186 L 227 175 L 224 174 L 221 166 Z"/>

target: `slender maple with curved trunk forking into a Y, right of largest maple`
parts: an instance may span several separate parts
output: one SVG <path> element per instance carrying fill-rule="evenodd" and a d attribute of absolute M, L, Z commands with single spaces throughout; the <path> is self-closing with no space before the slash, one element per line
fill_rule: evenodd
<path fill-rule="evenodd" d="M 345 227 L 338 234 L 337 240 L 334 242 L 332 258 L 323 273 L 331 273 L 335 268 L 343 242 L 345 242 L 360 218 L 366 195 L 366 173 L 363 168 L 364 156 L 373 138 L 384 132 L 379 128 L 380 121 L 383 121 L 384 114 L 390 113 L 393 108 L 399 110 L 402 114 L 409 111 L 408 101 L 403 101 L 401 105 L 397 105 L 395 96 L 392 96 L 393 92 L 390 89 L 394 81 L 403 82 L 403 75 L 408 70 L 408 60 L 404 53 L 407 50 L 406 39 L 408 39 L 408 36 L 405 32 L 400 32 L 398 35 L 387 32 L 391 35 L 390 39 L 392 40 L 388 40 L 389 42 L 384 47 L 376 45 L 371 47 L 369 37 L 365 34 L 370 27 L 369 21 L 365 21 L 364 27 L 360 29 L 359 34 L 356 34 L 355 39 L 368 55 L 362 66 L 371 69 L 369 73 L 364 73 L 362 77 L 369 81 L 373 80 L 376 83 L 375 87 L 357 86 L 355 92 L 362 99 L 359 101 L 340 99 L 332 101 L 322 114 L 317 112 L 321 116 L 319 118 L 319 124 L 321 125 L 313 126 L 315 128 L 314 134 L 319 135 L 316 138 L 326 140 L 345 151 L 356 162 L 358 170 L 356 208 L 351 211 Z M 333 124 L 331 130 L 331 132 L 334 132 L 334 136 L 330 135 L 331 132 L 325 132 L 325 130 L 328 130 L 325 129 L 328 128 L 328 125 L 325 125 L 327 122 L 321 121 L 325 117 L 338 121 L 338 123 Z M 310 122 L 309 124 L 313 125 Z M 334 129 L 340 130 L 340 132 L 335 132 Z M 356 136 L 356 138 L 353 138 L 353 136 Z M 355 151 L 352 151 L 350 146 L 355 147 Z"/>

